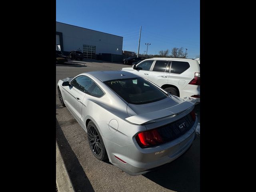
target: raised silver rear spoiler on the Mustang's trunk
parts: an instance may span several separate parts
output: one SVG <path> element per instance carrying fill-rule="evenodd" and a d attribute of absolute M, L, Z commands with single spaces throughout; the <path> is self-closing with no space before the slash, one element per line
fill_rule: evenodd
<path fill-rule="evenodd" d="M 150 113 L 134 115 L 126 118 L 126 120 L 133 124 L 142 125 L 150 121 L 152 122 L 156 119 L 165 118 L 168 116 L 172 116 L 174 114 L 179 114 L 187 110 L 188 108 L 192 107 L 195 103 L 196 101 L 194 99 L 187 97 L 187 98 L 184 98 L 184 102 L 178 105 L 175 105 L 166 109 L 150 112 Z"/>

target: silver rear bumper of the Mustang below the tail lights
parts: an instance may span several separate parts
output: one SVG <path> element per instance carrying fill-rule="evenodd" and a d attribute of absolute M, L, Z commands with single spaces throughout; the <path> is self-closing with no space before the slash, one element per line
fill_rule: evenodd
<path fill-rule="evenodd" d="M 108 149 L 108 157 L 112 164 L 130 175 L 140 175 L 157 169 L 159 166 L 168 164 L 184 154 L 192 145 L 196 136 L 195 130 L 198 119 L 194 126 L 183 136 L 169 143 L 152 148 L 140 148 L 137 143 L 119 146 L 114 142 L 104 139 Z M 122 159 L 118 160 L 115 156 Z"/>

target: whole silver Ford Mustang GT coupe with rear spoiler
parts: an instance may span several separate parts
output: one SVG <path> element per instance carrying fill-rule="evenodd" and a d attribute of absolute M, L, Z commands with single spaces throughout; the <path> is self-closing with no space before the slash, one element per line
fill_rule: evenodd
<path fill-rule="evenodd" d="M 178 98 L 125 71 L 94 71 L 58 81 L 58 96 L 87 132 L 90 149 L 130 175 L 172 162 L 192 145 L 192 98 Z"/>

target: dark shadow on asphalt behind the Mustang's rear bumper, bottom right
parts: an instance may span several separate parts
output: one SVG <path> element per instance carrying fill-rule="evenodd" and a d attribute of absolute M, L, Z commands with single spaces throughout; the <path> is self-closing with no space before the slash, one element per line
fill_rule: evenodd
<path fill-rule="evenodd" d="M 143 175 L 160 186 L 178 192 L 200 191 L 200 137 L 185 154 L 156 171 Z"/>

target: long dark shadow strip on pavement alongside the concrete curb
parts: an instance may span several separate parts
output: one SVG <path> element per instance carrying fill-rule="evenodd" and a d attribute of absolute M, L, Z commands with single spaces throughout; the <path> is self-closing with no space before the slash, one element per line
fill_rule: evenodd
<path fill-rule="evenodd" d="M 68 144 L 57 119 L 56 140 L 75 190 L 94 192 L 94 189 L 80 165 L 76 154 L 74 154 L 72 148 Z"/>

